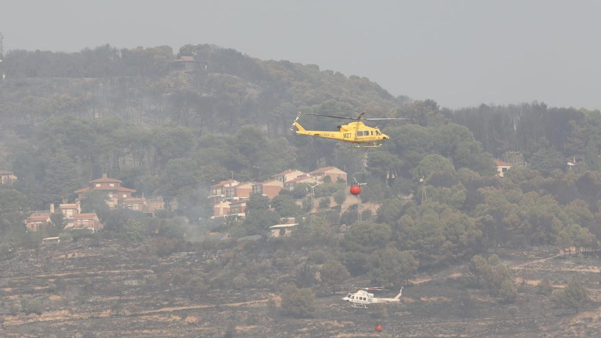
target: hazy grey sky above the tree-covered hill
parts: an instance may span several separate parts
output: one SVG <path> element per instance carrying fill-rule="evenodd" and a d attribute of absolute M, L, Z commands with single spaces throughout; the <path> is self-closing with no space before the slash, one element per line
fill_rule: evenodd
<path fill-rule="evenodd" d="M 4 49 L 214 43 L 443 106 L 601 108 L 600 1 L 2 1 Z"/>

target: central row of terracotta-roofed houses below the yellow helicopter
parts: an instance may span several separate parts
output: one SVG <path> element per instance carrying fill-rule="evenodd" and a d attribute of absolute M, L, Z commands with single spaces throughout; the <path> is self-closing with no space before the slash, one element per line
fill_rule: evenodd
<path fill-rule="evenodd" d="M 246 217 L 246 201 L 251 193 L 261 194 L 273 199 L 282 189 L 292 191 L 297 186 L 316 185 L 326 181 L 347 182 L 347 174 L 336 167 L 324 167 L 304 173 L 301 170 L 290 169 L 275 174 L 263 182 L 238 182 L 231 179 L 212 185 L 209 198 L 213 203 L 213 216 L 211 218 Z M 304 187 L 305 188 L 305 187 Z"/>

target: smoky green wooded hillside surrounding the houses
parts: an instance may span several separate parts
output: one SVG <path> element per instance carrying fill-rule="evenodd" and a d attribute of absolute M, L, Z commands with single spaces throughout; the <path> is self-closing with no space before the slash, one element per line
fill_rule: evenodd
<path fill-rule="evenodd" d="M 190 56 L 194 70 L 180 70 L 175 60 Z M 365 245 L 364 232 L 345 233 L 337 254 L 347 266 L 365 266 L 390 245 L 409 250 L 420 266 L 435 266 L 498 245 L 597 247 L 601 235 L 599 111 L 537 102 L 451 111 L 433 100 L 394 97 L 367 78 L 210 45 L 186 45 L 177 54 L 168 46 L 10 51 L 2 67 L 0 169 L 19 177 L 0 189 L 4 232 L 16 232 L 29 210 L 72 200 L 102 173 L 138 193 L 177 199 L 178 215 L 205 224 L 212 183 L 319 164 L 367 182 L 364 201 L 382 204 L 362 227 L 379 241 Z M 365 151 L 290 134 L 299 110 L 410 120 L 380 124 L 391 140 Z M 340 124 L 302 119 L 307 128 Z M 496 176 L 493 157 L 514 165 L 506 177 Z M 577 165 L 567 167 L 566 158 Z M 324 197 L 346 189 L 330 188 Z M 22 203 L 5 202 L 15 199 Z M 307 214 L 306 207 L 278 208 L 290 206 L 287 199 L 272 208 L 251 203 L 252 216 L 221 229 L 252 235 L 279 216 Z M 356 210 L 323 209 L 320 226 L 305 229 L 308 238 L 358 219 Z M 129 233 L 124 224 L 108 228 Z"/>

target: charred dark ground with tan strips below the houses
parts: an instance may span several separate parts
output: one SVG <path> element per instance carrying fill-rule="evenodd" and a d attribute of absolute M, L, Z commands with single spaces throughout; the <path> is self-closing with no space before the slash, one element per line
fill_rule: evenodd
<path fill-rule="evenodd" d="M 376 324 L 403 337 L 601 335 L 601 262 L 594 256 L 564 257 L 554 248 L 499 251 L 514 269 L 514 304 L 466 287 L 465 269 L 454 266 L 420 272 L 401 303 L 383 309 L 352 309 L 341 293 L 314 287 L 315 315 L 297 319 L 281 312 L 278 284 L 307 251 L 291 250 L 292 266 L 270 257 L 268 245 L 256 245 L 251 264 L 260 275 L 246 279 L 240 277 L 246 263 L 232 259 L 238 273 L 220 275 L 216 262 L 231 250 L 157 257 L 143 245 L 86 240 L 19 251 L 0 263 L 0 336 L 379 336 Z M 557 307 L 537 293 L 543 278 L 554 287 L 578 278 L 591 301 L 578 314 Z M 355 277 L 347 284 L 367 281 Z"/>

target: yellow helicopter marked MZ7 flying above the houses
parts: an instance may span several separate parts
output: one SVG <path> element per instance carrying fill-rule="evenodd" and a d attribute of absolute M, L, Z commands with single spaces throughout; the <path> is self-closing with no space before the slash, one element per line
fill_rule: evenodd
<path fill-rule="evenodd" d="M 377 128 L 377 126 L 375 128 L 368 127 L 363 122 L 361 122 L 361 120 L 408 120 L 408 118 L 399 117 L 364 118 L 363 116 L 365 115 L 365 112 L 362 112 L 356 118 L 322 114 L 307 115 L 342 118 L 344 120 L 354 120 L 355 122 L 338 126 L 338 131 L 307 131 L 298 122 L 299 118 L 301 118 L 301 112 L 299 112 L 296 115 L 296 119 L 290 126 L 291 131 L 294 131 L 294 127 L 296 127 L 296 135 L 308 135 L 313 137 L 329 138 L 331 140 L 339 140 L 348 143 L 355 143 L 356 146 L 354 146 L 353 148 L 376 148 L 382 146 L 383 141 L 388 140 L 390 138 L 388 135 L 384 134 L 383 132 L 380 132 L 380 129 Z M 364 146 L 363 144 L 370 145 Z"/>

